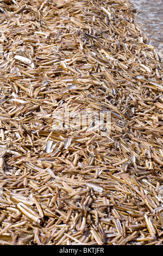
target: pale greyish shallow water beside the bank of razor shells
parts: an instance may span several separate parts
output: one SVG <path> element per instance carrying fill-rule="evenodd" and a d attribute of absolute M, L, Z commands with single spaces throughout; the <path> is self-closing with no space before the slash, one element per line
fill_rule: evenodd
<path fill-rule="evenodd" d="M 158 50 L 163 48 L 163 0 L 130 0 L 135 9 L 137 22 L 148 36 L 149 44 Z"/>

